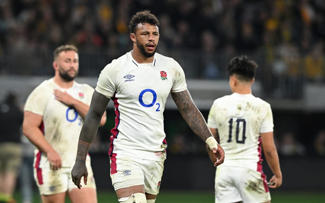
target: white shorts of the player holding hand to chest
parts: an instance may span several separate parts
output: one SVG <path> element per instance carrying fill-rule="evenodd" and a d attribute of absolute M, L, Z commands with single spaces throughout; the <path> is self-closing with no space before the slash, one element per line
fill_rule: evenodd
<path fill-rule="evenodd" d="M 88 161 L 87 161 L 88 162 Z M 38 186 L 40 195 L 55 195 L 63 192 L 70 192 L 78 189 L 72 182 L 72 167 L 62 167 L 59 170 L 51 170 L 50 168 L 34 168 L 34 179 Z M 81 178 L 82 188 L 96 189 L 96 183 L 92 168 L 87 164 L 88 177 L 87 185 L 84 184 L 84 177 Z"/>

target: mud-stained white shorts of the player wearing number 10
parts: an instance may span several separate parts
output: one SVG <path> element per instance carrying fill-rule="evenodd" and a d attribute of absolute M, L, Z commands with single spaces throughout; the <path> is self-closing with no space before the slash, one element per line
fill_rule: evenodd
<path fill-rule="evenodd" d="M 261 203 L 271 200 L 265 174 L 243 167 L 217 167 L 215 203 Z"/>

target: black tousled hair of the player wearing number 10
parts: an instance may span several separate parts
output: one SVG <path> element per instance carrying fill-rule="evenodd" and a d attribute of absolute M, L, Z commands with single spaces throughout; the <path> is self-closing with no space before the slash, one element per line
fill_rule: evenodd
<path fill-rule="evenodd" d="M 251 81 L 257 69 L 257 64 L 249 60 L 246 55 L 233 57 L 227 64 L 226 72 L 228 76 L 236 75 L 239 80 Z"/>

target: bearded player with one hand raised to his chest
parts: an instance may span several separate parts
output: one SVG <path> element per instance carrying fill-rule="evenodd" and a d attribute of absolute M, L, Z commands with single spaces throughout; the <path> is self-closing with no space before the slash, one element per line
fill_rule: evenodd
<path fill-rule="evenodd" d="M 24 107 L 23 133 L 35 145 L 34 178 L 44 203 L 97 202 L 96 184 L 87 155 L 88 184 L 80 191 L 71 180 L 78 138 L 94 88 L 75 82 L 78 49 L 62 45 L 54 51 L 53 78 L 38 85 Z M 106 114 L 100 125 L 106 122 Z"/>

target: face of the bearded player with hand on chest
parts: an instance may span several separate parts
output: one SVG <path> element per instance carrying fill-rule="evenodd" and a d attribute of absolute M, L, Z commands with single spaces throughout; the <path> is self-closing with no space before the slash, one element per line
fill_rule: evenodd
<path fill-rule="evenodd" d="M 74 51 L 63 51 L 57 57 L 60 77 L 65 81 L 72 81 L 78 75 L 79 57 Z"/>

